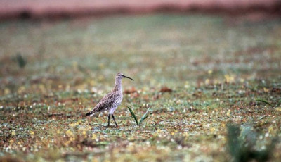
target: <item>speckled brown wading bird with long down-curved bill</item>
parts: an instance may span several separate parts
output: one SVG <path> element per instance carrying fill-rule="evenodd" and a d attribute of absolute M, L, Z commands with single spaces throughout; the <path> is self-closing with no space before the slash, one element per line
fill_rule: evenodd
<path fill-rule="evenodd" d="M 106 94 L 103 97 L 103 99 L 100 99 L 98 104 L 89 113 L 86 113 L 86 116 L 93 116 L 95 113 L 98 112 L 109 111 L 107 127 L 110 127 L 110 116 L 112 116 L 116 127 L 118 127 L 115 121 L 115 117 L 113 116 L 113 113 L 115 112 L 116 108 L 121 104 L 123 99 L 123 93 L 122 93 L 123 78 L 128 78 L 130 80 L 133 80 L 131 77 L 127 77 L 122 73 L 117 73 L 115 75 L 115 85 L 111 90 L 111 92 Z"/>

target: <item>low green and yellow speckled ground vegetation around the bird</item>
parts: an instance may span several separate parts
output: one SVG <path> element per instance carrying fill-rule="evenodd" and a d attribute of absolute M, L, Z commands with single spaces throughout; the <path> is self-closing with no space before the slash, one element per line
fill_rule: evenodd
<path fill-rule="evenodd" d="M 237 161 L 273 146 L 270 161 L 280 161 L 280 22 L 162 14 L 2 22 L 0 159 Z M 106 113 L 84 114 L 117 72 L 135 81 L 123 80 L 119 128 L 107 128 Z M 150 108 L 148 118 L 137 126 L 127 106 L 138 119 Z"/>

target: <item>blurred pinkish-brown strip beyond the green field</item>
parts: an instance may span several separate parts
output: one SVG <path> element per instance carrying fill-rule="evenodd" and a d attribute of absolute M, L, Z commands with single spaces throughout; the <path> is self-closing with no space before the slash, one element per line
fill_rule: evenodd
<path fill-rule="evenodd" d="M 280 0 L 2 0 L 0 18 L 57 18 L 116 13 L 151 13 L 159 11 L 208 13 L 280 14 Z"/>

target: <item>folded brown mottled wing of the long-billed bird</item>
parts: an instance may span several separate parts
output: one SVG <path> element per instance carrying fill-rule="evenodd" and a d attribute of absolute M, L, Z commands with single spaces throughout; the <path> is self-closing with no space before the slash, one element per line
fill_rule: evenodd
<path fill-rule="evenodd" d="M 93 108 L 91 113 L 96 113 L 100 111 L 105 111 L 107 108 L 110 108 L 115 103 L 115 93 L 106 94 L 103 99 L 101 99 L 98 104 Z"/>

